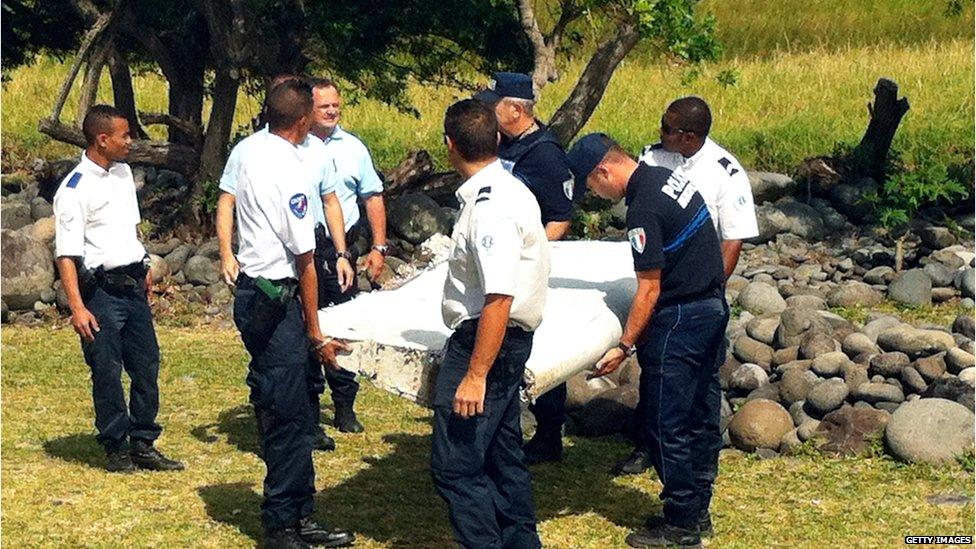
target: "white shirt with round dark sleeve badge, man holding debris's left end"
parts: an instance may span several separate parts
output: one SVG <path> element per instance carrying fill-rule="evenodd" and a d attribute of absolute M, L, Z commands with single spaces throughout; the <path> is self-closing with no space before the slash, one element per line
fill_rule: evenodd
<path fill-rule="evenodd" d="M 298 278 L 295 256 L 315 249 L 315 222 L 298 147 L 271 132 L 255 134 L 234 181 L 240 247 L 251 277 Z"/>

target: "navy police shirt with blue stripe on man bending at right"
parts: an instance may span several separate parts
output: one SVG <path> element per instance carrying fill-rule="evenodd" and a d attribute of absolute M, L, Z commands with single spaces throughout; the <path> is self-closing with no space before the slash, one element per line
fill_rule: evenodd
<path fill-rule="evenodd" d="M 657 306 L 720 293 L 722 250 L 694 185 L 667 168 L 639 164 L 627 182 L 626 203 L 634 270 L 661 269 Z"/>

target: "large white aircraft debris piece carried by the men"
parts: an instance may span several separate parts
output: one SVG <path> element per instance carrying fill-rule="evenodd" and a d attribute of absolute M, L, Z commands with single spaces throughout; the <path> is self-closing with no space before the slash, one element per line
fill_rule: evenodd
<path fill-rule="evenodd" d="M 591 368 L 617 344 L 637 288 L 627 242 L 554 242 L 551 255 L 546 308 L 525 371 L 524 394 L 532 400 Z M 340 365 L 430 405 L 451 334 L 441 318 L 446 276 L 441 262 L 397 289 L 319 311 L 326 334 L 353 342 Z"/>

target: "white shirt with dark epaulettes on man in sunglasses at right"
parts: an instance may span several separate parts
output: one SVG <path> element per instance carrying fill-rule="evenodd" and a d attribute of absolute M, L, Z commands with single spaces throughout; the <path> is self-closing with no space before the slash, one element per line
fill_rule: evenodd
<path fill-rule="evenodd" d="M 668 152 L 658 143 L 644 147 L 640 161 L 663 166 L 688 179 L 705 201 L 721 240 L 759 236 L 749 176 L 739 161 L 710 137 L 689 158 Z"/>

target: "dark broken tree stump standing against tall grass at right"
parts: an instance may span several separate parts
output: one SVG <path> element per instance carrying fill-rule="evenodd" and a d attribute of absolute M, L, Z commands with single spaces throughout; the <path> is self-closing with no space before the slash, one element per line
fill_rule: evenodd
<path fill-rule="evenodd" d="M 898 84 L 887 78 L 878 80 L 874 86 L 874 104 L 868 103 L 871 121 L 854 149 L 854 169 L 858 175 L 870 176 L 878 183 L 884 181 L 891 140 L 908 108 L 908 99 L 898 99 Z"/>

